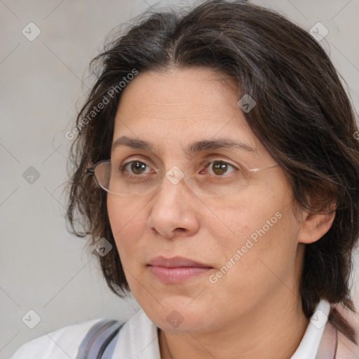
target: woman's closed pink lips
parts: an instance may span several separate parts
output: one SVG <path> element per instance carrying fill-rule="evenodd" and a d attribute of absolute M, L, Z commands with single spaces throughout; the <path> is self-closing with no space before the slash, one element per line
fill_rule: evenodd
<path fill-rule="evenodd" d="M 207 273 L 212 266 L 184 257 L 156 257 L 147 264 L 151 273 L 166 284 L 182 283 L 190 278 Z"/>

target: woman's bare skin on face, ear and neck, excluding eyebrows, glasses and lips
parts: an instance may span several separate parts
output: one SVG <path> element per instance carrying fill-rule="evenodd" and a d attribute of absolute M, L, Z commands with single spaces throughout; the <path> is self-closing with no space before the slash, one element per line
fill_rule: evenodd
<path fill-rule="evenodd" d="M 114 141 L 126 135 L 150 142 L 154 152 L 117 147 L 126 158 L 142 154 L 169 170 L 184 168 L 184 147 L 227 137 L 255 147 L 216 149 L 223 161 L 248 168 L 276 163 L 257 140 L 238 107 L 233 79 L 206 68 L 139 74 L 123 90 Z M 205 158 L 208 153 L 196 156 Z M 235 162 L 234 162 L 235 163 Z M 111 229 L 133 296 L 161 328 L 161 358 L 290 358 L 304 335 L 298 281 L 304 243 L 326 233 L 334 215 L 308 215 L 292 208 L 292 191 L 277 166 L 257 172 L 248 187 L 224 198 L 194 195 L 184 182 L 166 178 L 146 196 L 107 196 Z M 276 212 L 282 217 L 217 283 L 217 273 Z M 180 255 L 212 269 L 184 283 L 165 284 L 151 273 L 149 259 Z M 183 322 L 166 317 L 177 311 Z M 240 353 L 240 356 L 238 356 Z"/>

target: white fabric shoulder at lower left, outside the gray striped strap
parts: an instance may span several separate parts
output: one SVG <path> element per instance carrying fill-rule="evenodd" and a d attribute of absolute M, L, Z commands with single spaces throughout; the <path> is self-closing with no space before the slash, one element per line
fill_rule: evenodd
<path fill-rule="evenodd" d="M 100 320 L 88 320 L 46 333 L 20 346 L 11 359 L 76 358 L 81 341 Z"/>

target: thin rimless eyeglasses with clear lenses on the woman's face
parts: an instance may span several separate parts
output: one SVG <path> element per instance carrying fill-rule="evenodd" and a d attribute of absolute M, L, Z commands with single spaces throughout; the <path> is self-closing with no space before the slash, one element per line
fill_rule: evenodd
<path fill-rule="evenodd" d="M 147 161 L 147 160 L 146 160 Z M 198 165 L 199 170 L 182 170 L 176 165 L 170 170 L 151 167 L 142 159 L 131 159 L 123 163 L 121 158 L 100 161 L 87 169 L 94 175 L 97 184 L 110 194 L 118 196 L 143 196 L 161 188 L 164 177 L 172 184 L 182 181 L 198 196 L 229 196 L 245 189 L 255 172 L 274 168 L 278 163 L 266 168 L 249 169 L 244 163 L 229 163 L 222 159 L 206 158 Z"/>

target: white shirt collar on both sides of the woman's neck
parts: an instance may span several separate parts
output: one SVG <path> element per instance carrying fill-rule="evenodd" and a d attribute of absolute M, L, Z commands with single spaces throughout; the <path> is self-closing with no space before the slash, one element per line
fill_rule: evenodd
<path fill-rule="evenodd" d="M 321 299 L 316 311 L 311 316 L 303 339 L 291 359 L 315 359 L 325 324 L 330 311 L 330 304 Z M 120 332 L 113 358 L 161 359 L 158 346 L 156 325 L 147 317 L 143 309 L 126 322 Z"/>

